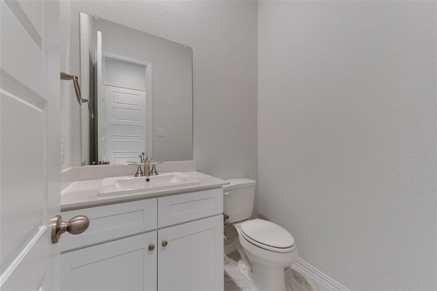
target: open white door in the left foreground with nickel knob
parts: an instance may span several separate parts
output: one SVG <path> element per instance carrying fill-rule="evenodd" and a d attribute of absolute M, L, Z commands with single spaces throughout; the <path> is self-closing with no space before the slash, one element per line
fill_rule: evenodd
<path fill-rule="evenodd" d="M 0 289 L 58 290 L 59 2 L 0 5 Z"/>

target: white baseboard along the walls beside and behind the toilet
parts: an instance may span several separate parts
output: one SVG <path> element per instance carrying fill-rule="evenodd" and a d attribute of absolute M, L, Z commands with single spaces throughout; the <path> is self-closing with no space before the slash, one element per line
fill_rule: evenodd
<path fill-rule="evenodd" d="M 235 250 L 236 247 L 234 242 L 228 243 L 224 246 L 225 254 L 229 254 Z M 296 259 L 296 261 L 290 266 L 290 268 L 294 269 L 297 273 L 302 275 L 307 281 L 313 281 L 316 282 L 317 285 L 323 286 L 324 288 L 320 288 L 322 290 L 350 291 L 349 289 L 338 283 L 336 280 L 323 274 L 318 269 L 314 268 L 301 258 Z M 308 283 L 309 285 L 312 285 L 311 282 Z"/>

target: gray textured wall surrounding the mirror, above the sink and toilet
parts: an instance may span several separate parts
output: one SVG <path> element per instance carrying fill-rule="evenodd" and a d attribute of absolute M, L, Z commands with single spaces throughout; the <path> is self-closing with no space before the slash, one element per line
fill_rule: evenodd
<path fill-rule="evenodd" d="M 80 73 L 80 12 L 193 48 L 198 169 L 218 178 L 257 178 L 256 1 L 61 1 L 61 65 L 73 74 Z M 73 94 L 72 85 L 63 84 L 63 168 L 81 161 L 80 113 Z"/>

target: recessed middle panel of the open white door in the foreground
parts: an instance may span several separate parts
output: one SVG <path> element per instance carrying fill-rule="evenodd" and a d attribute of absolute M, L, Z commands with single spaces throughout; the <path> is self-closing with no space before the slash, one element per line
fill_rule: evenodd
<path fill-rule="evenodd" d="M 1 272 L 10 265 L 22 250 L 24 245 L 32 240 L 43 227 L 44 197 L 44 173 L 40 166 L 44 165 L 44 112 L 40 108 L 23 102 L 22 99 L 8 92 L 1 92 Z M 34 120 L 27 123 L 21 113 Z M 8 125 L 13 124 L 13 127 Z M 19 132 L 19 134 L 17 134 Z M 40 136 L 42 135 L 42 136 Z M 33 140 L 32 147 L 26 139 Z M 14 142 L 12 142 L 14 141 Z M 11 152 L 26 153 L 20 156 L 8 155 Z M 17 172 L 8 171 L 7 165 L 16 162 L 26 164 L 27 154 L 34 157 L 26 171 L 34 173 L 26 175 L 27 183 L 21 183 L 23 178 Z M 4 181 L 3 181 L 4 179 Z M 28 195 L 26 195 L 28 194 Z M 13 207 L 11 207 L 13 206 Z M 17 211 L 22 213 L 17 219 Z M 17 219 L 14 221 L 14 219 Z M 23 244 L 17 245 L 17 242 Z"/>

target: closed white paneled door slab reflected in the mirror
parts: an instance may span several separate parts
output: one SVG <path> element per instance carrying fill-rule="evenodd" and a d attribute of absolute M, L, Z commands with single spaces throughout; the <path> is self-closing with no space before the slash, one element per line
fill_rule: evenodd
<path fill-rule="evenodd" d="M 108 161 L 140 162 L 141 152 L 146 152 L 146 92 L 106 85 Z"/>

